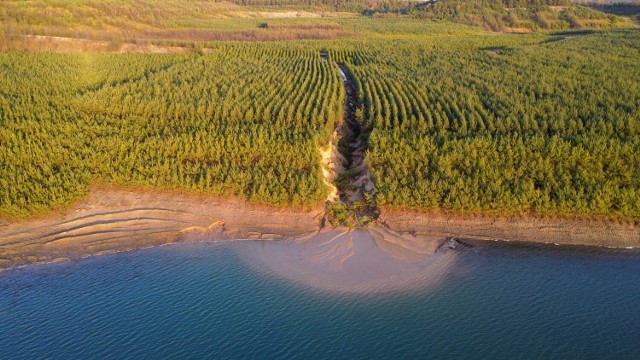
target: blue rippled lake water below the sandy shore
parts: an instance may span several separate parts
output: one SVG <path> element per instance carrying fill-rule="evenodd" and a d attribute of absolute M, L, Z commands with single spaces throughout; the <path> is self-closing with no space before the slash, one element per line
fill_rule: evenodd
<path fill-rule="evenodd" d="M 640 252 L 471 245 L 385 291 L 282 241 L 30 266 L 0 274 L 0 358 L 640 358 Z"/>

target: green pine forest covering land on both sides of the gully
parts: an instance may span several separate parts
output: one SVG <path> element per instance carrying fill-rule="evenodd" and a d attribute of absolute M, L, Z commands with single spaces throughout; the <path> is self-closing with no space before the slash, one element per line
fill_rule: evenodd
<path fill-rule="evenodd" d="M 120 27 L 100 30 L 127 29 L 118 41 L 144 42 L 141 34 L 158 29 L 178 37 L 193 29 L 340 34 L 267 42 L 203 35 L 181 54 L 54 53 L 14 45 L 75 27 L 95 35 L 95 24 L 73 11 L 71 25 L 36 21 L 30 16 L 42 8 L 11 3 L 0 10 L 0 216 L 63 209 L 92 184 L 318 206 L 329 192 L 319 149 L 344 115 L 343 64 L 375 184 L 368 200 L 378 206 L 640 220 L 640 31 L 630 23 L 585 31 L 552 21 L 549 29 L 581 30 L 495 33 L 502 27 L 442 15 L 453 2 L 407 15 L 396 3 L 371 2 L 367 9 L 396 15 L 297 19 L 195 19 L 202 9 L 221 14 L 222 6 L 227 16 L 244 4 L 169 2 L 136 18 L 127 14 L 153 2 L 125 1 L 103 9 L 123 14 Z M 285 6 L 256 4 L 251 11 Z M 496 2 L 471 4 L 454 6 L 456 17 L 478 9 L 509 16 Z M 564 16 L 551 5 L 566 4 L 536 8 Z M 612 27 L 616 18 L 596 13 Z"/>

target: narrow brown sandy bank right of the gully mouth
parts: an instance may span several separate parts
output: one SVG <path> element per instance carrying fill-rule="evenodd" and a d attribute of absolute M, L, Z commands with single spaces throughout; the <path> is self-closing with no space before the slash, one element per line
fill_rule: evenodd
<path fill-rule="evenodd" d="M 448 238 L 640 248 L 640 225 L 605 220 L 467 216 L 383 210 L 379 219 L 399 233 Z"/>

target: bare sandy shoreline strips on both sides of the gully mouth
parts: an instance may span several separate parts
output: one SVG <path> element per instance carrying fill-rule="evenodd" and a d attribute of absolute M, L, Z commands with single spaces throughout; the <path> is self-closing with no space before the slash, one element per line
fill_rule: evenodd
<path fill-rule="evenodd" d="M 324 233 L 324 209 L 276 208 L 219 196 L 98 188 L 67 210 L 0 222 L 0 272 L 178 242 L 305 241 Z M 640 225 L 606 220 L 461 216 L 382 209 L 377 225 L 406 246 L 449 239 L 640 248 Z M 416 245 L 417 244 L 417 245 Z M 405 247 L 406 247 L 405 246 Z"/>

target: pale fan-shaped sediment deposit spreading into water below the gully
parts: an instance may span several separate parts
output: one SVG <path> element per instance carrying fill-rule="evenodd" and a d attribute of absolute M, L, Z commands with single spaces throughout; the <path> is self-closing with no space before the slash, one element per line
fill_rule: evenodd
<path fill-rule="evenodd" d="M 257 271 L 343 294 L 385 293 L 436 284 L 457 252 L 380 226 L 333 229 L 303 240 L 269 241 L 238 249 L 240 257 Z"/>

